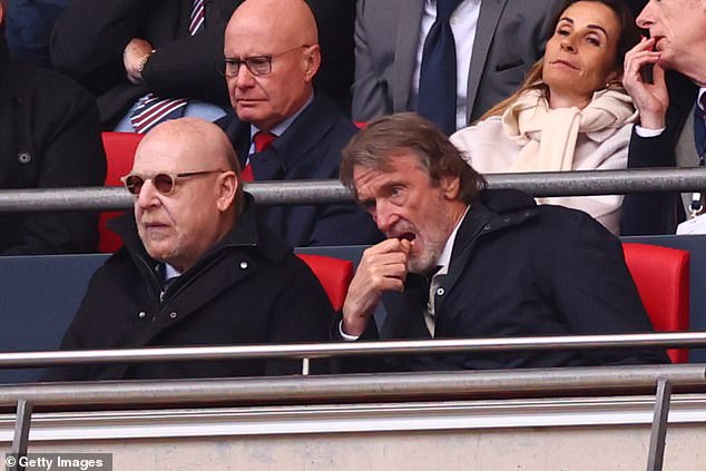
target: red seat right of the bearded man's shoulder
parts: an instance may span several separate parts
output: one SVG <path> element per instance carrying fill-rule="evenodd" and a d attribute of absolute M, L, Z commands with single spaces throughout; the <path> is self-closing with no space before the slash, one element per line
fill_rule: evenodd
<path fill-rule="evenodd" d="M 656 331 L 689 328 L 689 253 L 649 244 L 622 244 L 625 262 Z M 687 363 L 688 350 L 669 350 L 674 363 Z"/>

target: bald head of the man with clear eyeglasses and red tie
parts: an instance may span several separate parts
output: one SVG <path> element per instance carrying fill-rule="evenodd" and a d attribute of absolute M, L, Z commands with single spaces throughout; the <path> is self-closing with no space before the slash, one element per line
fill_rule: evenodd
<path fill-rule="evenodd" d="M 226 76 L 233 109 L 243 121 L 272 130 L 294 116 L 313 94 L 321 65 L 318 32 L 304 0 L 246 0 L 226 28 L 224 56 L 269 62 L 269 72 L 246 66 Z"/>

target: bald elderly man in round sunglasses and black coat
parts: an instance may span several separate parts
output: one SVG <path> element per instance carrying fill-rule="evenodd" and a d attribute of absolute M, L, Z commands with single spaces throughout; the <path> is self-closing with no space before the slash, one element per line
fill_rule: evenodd
<path fill-rule="evenodd" d="M 236 155 L 216 125 L 196 118 L 158 125 L 122 181 L 135 195 L 134 215 L 112 224 L 125 247 L 92 276 L 63 350 L 329 340 L 326 295 L 292 249 L 256 222 Z M 71 366 L 52 379 L 300 370 L 286 360 L 140 363 Z"/>

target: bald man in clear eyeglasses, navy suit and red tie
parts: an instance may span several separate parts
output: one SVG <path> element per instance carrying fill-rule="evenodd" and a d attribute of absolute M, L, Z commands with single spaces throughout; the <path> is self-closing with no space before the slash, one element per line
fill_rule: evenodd
<path fill-rule="evenodd" d="M 320 89 L 322 57 L 303 0 L 247 0 L 226 28 L 222 71 L 237 119 L 225 125 L 246 180 L 337 178 L 355 126 Z M 353 204 L 272 206 L 263 220 L 293 246 L 369 244 L 377 232 Z"/>

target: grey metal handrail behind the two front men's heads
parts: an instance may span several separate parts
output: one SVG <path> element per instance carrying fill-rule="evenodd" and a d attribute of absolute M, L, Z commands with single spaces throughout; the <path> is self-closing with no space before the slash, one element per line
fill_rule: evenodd
<path fill-rule="evenodd" d="M 586 196 L 634 192 L 693 192 L 706 188 L 706 168 L 549 171 L 486 176 L 491 188 L 517 188 L 532 196 Z M 245 189 L 261 205 L 352 202 L 339 180 L 249 183 Z M 120 187 L 1 189 L 0 213 L 108 210 L 133 206 Z"/>

